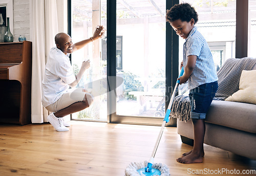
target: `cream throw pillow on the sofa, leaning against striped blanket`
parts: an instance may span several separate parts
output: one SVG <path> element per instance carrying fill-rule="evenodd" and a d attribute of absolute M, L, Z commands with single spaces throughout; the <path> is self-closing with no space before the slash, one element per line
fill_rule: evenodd
<path fill-rule="evenodd" d="M 228 97 L 226 101 L 256 104 L 256 70 L 242 71 L 239 91 Z"/>

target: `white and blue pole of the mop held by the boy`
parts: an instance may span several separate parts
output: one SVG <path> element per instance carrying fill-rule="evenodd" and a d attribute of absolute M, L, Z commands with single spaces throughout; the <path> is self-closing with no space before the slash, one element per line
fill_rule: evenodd
<path fill-rule="evenodd" d="M 182 67 L 179 77 L 181 77 L 183 75 L 183 73 L 184 73 L 184 69 Z M 156 142 L 155 147 L 153 149 L 151 158 L 155 158 L 155 155 L 156 155 L 156 152 L 157 152 L 157 148 L 158 148 L 158 145 L 160 143 L 160 139 L 161 139 L 162 134 L 163 134 L 163 129 L 164 129 L 165 123 L 167 123 L 169 121 L 170 108 L 172 107 L 172 104 L 173 104 L 173 101 L 174 101 L 174 97 L 175 97 L 175 94 L 176 94 L 176 91 L 177 91 L 177 87 L 179 86 L 179 83 L 180 83 L 180 80 L 177 80 L 176 85 L 174 87 L 174 92 L 173 92 L 172 98 L 170 98 L 170 102 L 169 102 L 167 111 L 165 113 L 165 117 L 164 117 L 163 122 L 162 122 L 161 130 L 160 130 L 160 133 L 158 135 L 157 142 Z"/>

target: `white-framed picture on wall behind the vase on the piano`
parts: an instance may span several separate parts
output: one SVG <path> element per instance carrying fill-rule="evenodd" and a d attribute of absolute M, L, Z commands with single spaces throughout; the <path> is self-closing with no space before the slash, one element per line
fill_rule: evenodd
<path fill-rule="evenodd" d="M 1 22 L 1 16 L 3 17 L 3 21 L 6 23 L 6 18 L 9 17 L 9 25 L 10 25 L 10 31 L 13 34 L 13 0 L 1 0 L 0 1 L 0 22 Z M 0 26 L 3 26 L 0 24 Z"/>

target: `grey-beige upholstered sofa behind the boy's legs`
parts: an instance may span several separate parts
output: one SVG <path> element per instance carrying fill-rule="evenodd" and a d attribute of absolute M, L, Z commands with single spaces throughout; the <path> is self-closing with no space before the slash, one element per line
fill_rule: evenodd
<path fill-rule="evenodd" d="M 256 160 L 256 104 L 214 100 L 205 124 L 205 144 Z M 191 121 L 177 120 L 177 129 L 182 142 L 193 145 Z"/>

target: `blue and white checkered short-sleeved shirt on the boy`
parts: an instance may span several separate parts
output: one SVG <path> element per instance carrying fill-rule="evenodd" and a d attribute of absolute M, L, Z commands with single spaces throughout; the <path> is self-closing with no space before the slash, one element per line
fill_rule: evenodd
<path fill-rule="evenodd" d="M 186 67 L 187 56 L 196 55 L 196 67 L 188 78 L 188 89 L 218 80 L 209 46 L 202 34 L 194 27 L 183 45 L 183 66 Z"/>

